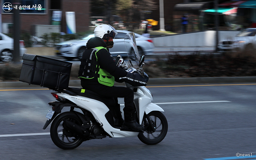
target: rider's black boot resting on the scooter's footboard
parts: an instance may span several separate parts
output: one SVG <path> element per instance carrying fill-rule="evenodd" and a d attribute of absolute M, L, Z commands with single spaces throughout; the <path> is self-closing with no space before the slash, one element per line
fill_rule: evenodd
<path fill-rule="evenodd" d="M 136 112 L 135 113 L 131 113 L 128 115 L 124 115 L 124 124 L 123 124 L 123 128 L 129 128 L 132 129 L 134 131 L 140 131 L 144 129 L 143 125 L 140 125 L 137 123 L 136 118 L 135 118 Z"/>

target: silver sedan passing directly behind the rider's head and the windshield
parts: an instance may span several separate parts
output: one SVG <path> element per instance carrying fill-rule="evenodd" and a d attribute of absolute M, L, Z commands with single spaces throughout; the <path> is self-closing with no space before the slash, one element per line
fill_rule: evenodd
<path fill-rule="evenodd" d="M 127 57 L 127 52 L 124 44 L 124 36 L 129 33 L 129 31 L 117 30 L 114 41 L 114 47 L 109 49 L 110 54 L 113 57 L 121 55 L 122 57 Z M 57 56 L 63 56 L 67 60 L 72 60 L 74 58 L 82 58 L 83 52 L 86 49 L 87 41 L 94 37 L 94 34 L 87 35 L 81 39 L 69 40 L 65 42 L 58 43 L 56 45 Z M 148 37 L 144 37 L 140 34 L 135 33 L 136 43 L 138 47 L 139 54 L 150 54 L 154 50 L 153 40 Z"/>

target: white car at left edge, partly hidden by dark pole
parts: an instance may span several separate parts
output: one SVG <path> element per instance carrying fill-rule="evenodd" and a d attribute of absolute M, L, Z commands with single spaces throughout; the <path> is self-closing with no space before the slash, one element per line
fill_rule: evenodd
<path fill-rule="evenodd" d="M 24 41 L 20 40 L 20 56 L 27 52 Z M 13 59 L 13 39 L 0 33 L 0 61 L 9 62 Z"/>

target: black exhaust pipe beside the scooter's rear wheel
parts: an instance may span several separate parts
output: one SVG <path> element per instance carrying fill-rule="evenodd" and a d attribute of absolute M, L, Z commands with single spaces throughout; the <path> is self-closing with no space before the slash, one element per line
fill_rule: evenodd
<path fill-rule="evenodd" d="M 64 129 L 70 130 L 70 131 L 75 132 L 79 135 L 85 135 L 85 136 L 90 135 L 90 132 L 87 129 L 79 126 L 76 123 L 73 123 L 69 120 L 66 120 L 66 119 L 63 120 L 62 126 L 63 126 Z"/>

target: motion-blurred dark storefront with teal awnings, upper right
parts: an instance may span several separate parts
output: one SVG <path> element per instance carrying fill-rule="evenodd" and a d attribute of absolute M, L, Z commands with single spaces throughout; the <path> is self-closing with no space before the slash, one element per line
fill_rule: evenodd
<path fill-rule="evenodd" d="M 215 15 L 219 30 L 239 30 L 256 27 L 256 0 L 196 1 L 174 6 L 173 32 L 182 32 L 182 17 L 188 17 L 187 32 L 215 30 Z"/>

